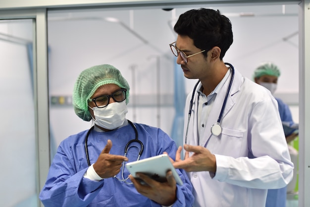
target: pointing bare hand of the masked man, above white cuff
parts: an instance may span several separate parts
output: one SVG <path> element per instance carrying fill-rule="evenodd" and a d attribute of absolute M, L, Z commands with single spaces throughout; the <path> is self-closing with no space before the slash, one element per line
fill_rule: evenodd
<path fill-rule="evenodd" d="M 119 173 L 123 161 L 128 161 L 126 156 L 111 155 L 112 141 L 108 140 L 103 151 L 94 163 L 94 170 L 102 178 L 113 177 Z"/>

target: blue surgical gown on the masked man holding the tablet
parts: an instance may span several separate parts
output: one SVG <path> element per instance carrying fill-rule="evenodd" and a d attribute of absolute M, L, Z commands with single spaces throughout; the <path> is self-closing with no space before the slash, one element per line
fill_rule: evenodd
<path fill-rule="evenodd" d="M 162 130 L 143 124 L 135 124 L 138 138 L 144 144 L 141 159 L 160 155 L 167 152 L 175 159 L 177 150 L 174 141 Z M 85 155 L 85 136 L 87 131 L 72 135 L 63 140 L 53 158 L 48 178 L 40 193 L 40 200 L 45 207 L 161 207 L 137 192 L 134 185 L 126 184 L 114 177 L 101 181 L 84 178 L 88 169 Z M 90 162 L 95 163 L 105 147 L 107 140 L 112 141 L 110 154 L 124 155 L 126 144 L 135 139 L 135 132 L 131 125 L 126 125 L 109 132 L 92 130 L 88 138 Z M 137 160 L 140 145 L 128 150 L 129 161 Z M 121 171 L 122 172 L 122 171 Z M 116 176 L 121 178 L 121 172 Z M 177 169 L 183 185 L 177 185 L 177 201 L 175 207 L 189 207 L 194 202 L 192 184 L 184 170 Z M 129 172 L 124 168 L 124 177 Z"/>

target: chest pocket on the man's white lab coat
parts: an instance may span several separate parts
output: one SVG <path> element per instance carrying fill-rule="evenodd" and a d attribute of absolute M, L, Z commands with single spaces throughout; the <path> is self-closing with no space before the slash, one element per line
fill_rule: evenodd
<path fill-rule="evenodd" d="M 241 156 L 244 131 L 222 128 L 220 137 L 220 149 L 222 155 L 234 158 Z"/>

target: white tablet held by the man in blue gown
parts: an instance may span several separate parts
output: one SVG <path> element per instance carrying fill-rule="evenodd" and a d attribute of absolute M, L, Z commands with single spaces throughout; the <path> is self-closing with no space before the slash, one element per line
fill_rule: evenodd
<path fill-rule="evenodd" d="M 183 185 L 179 174 L 176 172 L 168 155 L 166 154 L 128 162 L 126 163 L 126 168 L 134 177 L 136 172 L 141 172 L 158 182 L 166 182 L 166 173 L 168 170 L 171 170 L 176 183 Z"/>

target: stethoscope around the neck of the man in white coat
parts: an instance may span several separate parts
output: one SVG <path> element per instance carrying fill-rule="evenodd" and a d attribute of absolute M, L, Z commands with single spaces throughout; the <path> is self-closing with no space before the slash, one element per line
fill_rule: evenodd
<path fill-rule="evenodd" d="M 232 75 L 231 75 L 231 78 L 230 78 L 228 89 L 227 89 L 227 92 L 226 92 L 226 95 L 225 95 L 225 99 L 224 99 L 224 102 L 223 102 L 223 105 L 222 105 L 222 109 L 221 109 L 221 112 L 219 113 L 217 122 L 215 124 L 213 124 L 212 127 L 211 127 L 211 134 L 214 135 L 214 136 L 219 136 L 222 133 L 222 127 L 220 125 L 220 122 L 221 122 L 221 118 L 222 118 L 222 115 L 223 115 L 223 112 L 224 112 L 224 108 L 225 108 L 225 105 L 226 105 L 226 102 L 227 102 L 227 97 L 229 95 L 230 88 L 231 88 L 231 85 L 232 85 L 232 82 L 233 82 L 233 79 L 234 79 L 234 76 L 235 76 L 234 66 L 232 66 L 232 64 L 227 63 L 227 62 L 225 62 L 225 65 L 229 65 L 229 67 L 231 68 L 231 71 L 232 71 Z M 187 144 L 188 126 L 189 126 L 190 119 L 191 119 L 194 96 L 195 96 L 195 92 L 196 92 L 196 89 L 197 89 L 197 86 L 198 86 L 199 83 L 200 83 L 200 81 L 198 81 L 196 83 L 195 87 L 194 87 L 193 94 L 192 94 L 192 99 L 191 99 L 191 102 L 190 102 L 190 109 L 189 109 L 189 112 L 188 112 L 188 121 L 187 121 L 186 134 L 185 134 L 185 144 Z"/>

